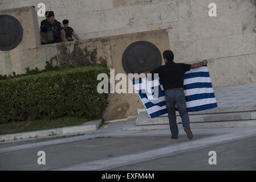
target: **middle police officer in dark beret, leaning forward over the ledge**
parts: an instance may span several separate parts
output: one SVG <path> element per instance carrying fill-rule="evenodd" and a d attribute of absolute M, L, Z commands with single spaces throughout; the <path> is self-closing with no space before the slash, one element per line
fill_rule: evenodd
<path fill-rule="evenodd" d="M 50 11 L 47 22 L 40 27 L 40 35 L 48 44 L 60 43 L 62 40 L 67 42 L 66 32 L 62 24 L 55 20 L 53 11 Z"/>

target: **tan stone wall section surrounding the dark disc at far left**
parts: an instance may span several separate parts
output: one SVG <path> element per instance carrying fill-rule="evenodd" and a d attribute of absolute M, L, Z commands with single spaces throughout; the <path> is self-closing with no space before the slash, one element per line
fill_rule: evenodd
<path fill-rule="evenodd" d="M 2 7 L 1 5 L 0 7 Z M 37 26 L 38 19 L 36 18 L 35 9 L 32 7 L 23 7 L 17 9 L 0 10 L 0 14 L 13 16 L 21 23 L 23 28 L 23 37 L 21 43 L 10 51 L 0 51 L 0 75 L 13 75 L 13 72 L 23 73 L 25 72 L 25 68 L 34 67 L 34 65 L 42 68 L 42 63 L 38 63 L 38 61 L 40 62 L 38 57 L 43 57 L 44 54 L 42 53 L 40 56 L 38 56 L 38 53 L 34 55 L 34 52 L 30 51 L 37 48 L 37 46 L 40 44 Z M 28 60 L 30 60 L 31 57 L 34 57 L 35 59 L 32 60 L 32 62 L 29 62 Z"/>

